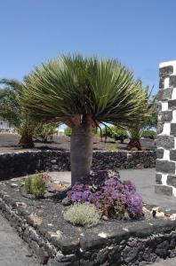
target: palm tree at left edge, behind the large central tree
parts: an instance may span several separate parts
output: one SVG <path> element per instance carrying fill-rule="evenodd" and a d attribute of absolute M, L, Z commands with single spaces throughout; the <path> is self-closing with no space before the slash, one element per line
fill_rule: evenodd
<path fill-rule="evenodd" d="M 2 79 L 0 83 L 5 86 L 0 95 L 0 117 L 9 121 L 18 130 L 20 146 L 23 148 L 34 147 L 32 137 L 35 124 L 22 107 L 20 100 L 23 83 L 13 79 Z"/>

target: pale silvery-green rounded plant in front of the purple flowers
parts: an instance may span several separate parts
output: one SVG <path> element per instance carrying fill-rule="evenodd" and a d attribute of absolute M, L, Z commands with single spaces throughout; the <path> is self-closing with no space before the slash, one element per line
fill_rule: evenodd
<path fill-rule="evenodd" d="M 74 225 L 90 227 L 99 223 L 100 213 L 93 206 L 77 203 L 68 208 L 64 213 L 64 219 Z"/>

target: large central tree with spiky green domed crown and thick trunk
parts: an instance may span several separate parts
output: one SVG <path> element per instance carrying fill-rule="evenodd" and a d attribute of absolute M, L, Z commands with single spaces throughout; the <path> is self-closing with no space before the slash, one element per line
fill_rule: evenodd
<path fill-rule="evenodd" d="M 28 75 L 24 106 L 37 121 L 59 121 L 72 129 L 71 183 L 88 176 L 92 166 L 92 129 L 100 124 L 126 126 L 145 113 L 148 95 L 118 61 L 52 59 Z"/>

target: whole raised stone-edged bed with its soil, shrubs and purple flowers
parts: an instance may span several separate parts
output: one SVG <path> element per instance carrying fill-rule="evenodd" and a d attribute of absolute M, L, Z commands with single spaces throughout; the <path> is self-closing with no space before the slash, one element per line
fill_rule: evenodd
<path fill-rule="evenodd" d="M 142 202 L 118 173 L 70 187 L 51 173 L 0 184 L 3 215 L 47 265 L 144 265 L 176 254 L 174 212 Z"/>

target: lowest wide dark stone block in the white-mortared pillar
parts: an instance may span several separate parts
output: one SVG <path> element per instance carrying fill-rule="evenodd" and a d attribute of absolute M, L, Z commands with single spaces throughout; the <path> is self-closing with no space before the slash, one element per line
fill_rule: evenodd
<path fill-rule="evenodd" d="M 168 160 L 156 160 L 156 172 L 162 173 L 175 173 L 175 163 Z"/>

